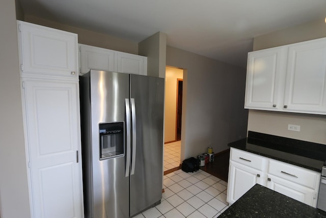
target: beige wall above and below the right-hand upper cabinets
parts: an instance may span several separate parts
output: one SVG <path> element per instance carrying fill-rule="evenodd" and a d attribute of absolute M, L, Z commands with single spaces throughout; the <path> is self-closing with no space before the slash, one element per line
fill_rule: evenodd
<path fill-rule="evenodd" d="M 324 19 L 258 36 L 254 38 L 254 50 L 322 37 L 326 37 Z M 288 124 L 301 126 L 301 131 L 288 131 Z M 248 130 L 326 144 L 325 115 L 250 110 Z"/>

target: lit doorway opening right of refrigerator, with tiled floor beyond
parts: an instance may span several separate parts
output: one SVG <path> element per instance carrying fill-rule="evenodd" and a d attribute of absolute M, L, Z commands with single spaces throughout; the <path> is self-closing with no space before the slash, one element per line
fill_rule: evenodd
<path fill-rule="evenodd" d="M 166 67 L 165 83 L 165 175 L 180 167 L 183 69 Z"/>

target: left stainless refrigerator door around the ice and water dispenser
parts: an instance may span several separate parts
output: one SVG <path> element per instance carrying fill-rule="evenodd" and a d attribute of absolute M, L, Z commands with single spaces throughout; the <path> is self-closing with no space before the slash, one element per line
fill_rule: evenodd
<path fill-rule="evenodd" d="M 129 177 L 125 177 L 124 155 L 99 159 L 99 124 L 124 122 L 125 99 L 129 99 L 129 75 L 91 70 L 91 125 L 93 215 L 91 217 L 128 217 Z M 126 128 L 124 129 L 126 136 Z M 125 138 L 125 137 L 124 137 Z"/>

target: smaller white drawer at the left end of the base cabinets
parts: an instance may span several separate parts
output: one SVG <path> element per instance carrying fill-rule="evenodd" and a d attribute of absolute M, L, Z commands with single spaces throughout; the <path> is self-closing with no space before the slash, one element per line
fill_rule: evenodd
<path fill-rule="evenodd" d="M 243 165 L 247 165 L 252 168 L 259 169 L 260 171 L 264 170 L 264 167 L 267 162 L 267 159 L 262 156 L 252 154 L 246 151 L 241 151 L 234 148 L 231 148 L 230 159 L 238 163 L 241 163 Z"/>

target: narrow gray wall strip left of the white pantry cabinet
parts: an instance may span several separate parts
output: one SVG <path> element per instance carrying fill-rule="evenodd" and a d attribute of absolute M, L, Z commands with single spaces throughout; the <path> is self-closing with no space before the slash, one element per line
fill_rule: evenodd
<path fill-rule="evenodd" d="M 30 217 L 15 1 L 0 7 L 0 216 Z"/>

